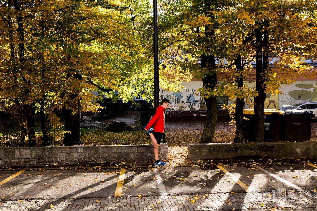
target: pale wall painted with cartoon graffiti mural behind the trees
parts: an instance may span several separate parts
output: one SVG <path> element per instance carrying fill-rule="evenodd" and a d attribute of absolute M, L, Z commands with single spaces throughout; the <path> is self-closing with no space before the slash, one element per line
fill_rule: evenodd
<path fill-rule="evenodd" d="M 246 84 L 250 88 L 255 87 L 256 83 Z M 206 116 L 206 103 L 197 89 L 202 87 L 201 81 L 184 82 L 185 90 L 182 92 L 166 92 L 160 91 L 160 99 L 166 98 L 171 104 L 166 109 L 167 117 L 197 117 Z M 282 105 L 295 105 L 301 102 L 317 101 L 317 81 L 295 81 L 290 85 L 281 85 L 282 94 L 267 94 L 265 99 L 265 108 L 281 109 Z M 253 99 L 251 99 L 253 100 Z M 230 104 L 230 100 L 226 97 L 217 98 L 218 108 L 221 105 Z M 253 106 L 246 105 L 246 108 Z"/>

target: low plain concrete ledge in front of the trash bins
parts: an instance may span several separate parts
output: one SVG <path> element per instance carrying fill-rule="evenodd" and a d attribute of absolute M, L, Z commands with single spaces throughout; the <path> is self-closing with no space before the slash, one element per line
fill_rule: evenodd
<path fill-rule="evenodd" d="M 242 158 L 317 158 L 316 142 L 188 144 L 189 160 Z"/>

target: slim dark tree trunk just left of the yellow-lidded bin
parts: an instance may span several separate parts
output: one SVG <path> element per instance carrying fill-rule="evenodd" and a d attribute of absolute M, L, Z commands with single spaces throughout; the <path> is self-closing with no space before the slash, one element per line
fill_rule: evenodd
<path fill-rule="evenodd" d="M 237 55 L 235 59 L 236 65 L 236 83 L 237 89 L 243 89 L 243 66 L 242 66 L 242 58 L 241 55 Z M 236 98 L 236 108 L 235 108 L 235 122 L 236 122 L 236 134 L 233 142 L 242 143 L 243 142 L 243 107 L 244 107 L 244 99 Z"/>

